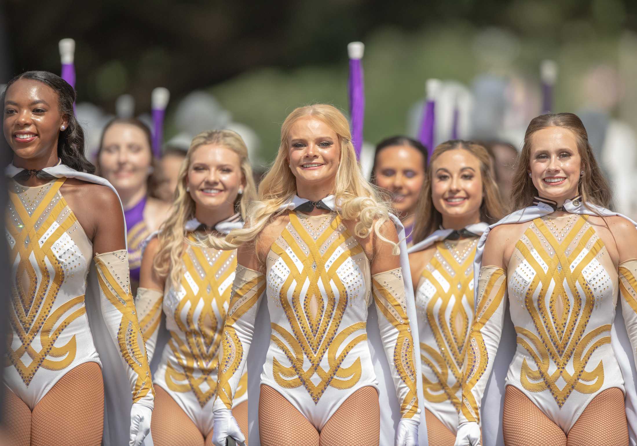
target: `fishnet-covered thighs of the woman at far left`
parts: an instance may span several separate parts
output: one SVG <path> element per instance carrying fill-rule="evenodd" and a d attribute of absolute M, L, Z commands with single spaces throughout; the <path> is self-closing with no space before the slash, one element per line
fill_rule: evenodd
<path fill-rule="evenodd" d="M 104 428 L 104 383 L 97 363 L 64 375 L 33 412 L 6 388 L 3 419 L 8 444 L 15 446 L 99 446 Z"/>

